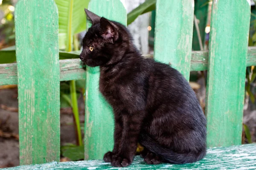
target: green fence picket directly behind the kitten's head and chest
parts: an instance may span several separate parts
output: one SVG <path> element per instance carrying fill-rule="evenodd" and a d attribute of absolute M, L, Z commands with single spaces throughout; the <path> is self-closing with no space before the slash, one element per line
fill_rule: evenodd
<path fill-rule="evenodd" d="M 88 8 L 109 20 L 127 23 L 126 10 L 119 0 L 91 0 Z M 99 67 L 87 67 L 85 106 L 85 159 L 102 159 L 113 149 L 114 121 L 111 106 L 99 92 Z"/>

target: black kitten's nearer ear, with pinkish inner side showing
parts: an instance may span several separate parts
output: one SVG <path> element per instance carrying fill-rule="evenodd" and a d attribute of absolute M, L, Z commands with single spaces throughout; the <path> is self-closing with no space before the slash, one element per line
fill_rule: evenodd
<path fill-rule="evenodd" d="M 113 43 L 118 39 L 118 32 L 115 24 L 113 24 L 111 21 L 107 20 L 104 17 L 100 19 L 100 30 L 101 36 L 105 40 L 108 40 L 109 42 Z"/>

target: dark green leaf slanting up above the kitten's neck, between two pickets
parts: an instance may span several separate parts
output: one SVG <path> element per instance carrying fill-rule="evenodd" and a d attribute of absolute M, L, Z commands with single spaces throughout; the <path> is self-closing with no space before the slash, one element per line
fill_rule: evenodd
<path fill-rule="evenodd" d="M 127 25 L 131 24 L 139 15 L 156 9 L 157 0 L 146 0 L 137 8 L 127 14 Z"/>

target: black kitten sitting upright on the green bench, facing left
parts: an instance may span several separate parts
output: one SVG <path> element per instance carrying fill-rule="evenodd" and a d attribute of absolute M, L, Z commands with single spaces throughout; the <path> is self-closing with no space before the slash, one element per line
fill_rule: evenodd
<path fill-rule="evenodd" d="M 92 26 L 80 59 L 100 66 L 99 90 L 114 111 L 114 148 L 104 161 L 126 167 L 137 142 L 148 164 L 185 164 L 206 154 L 206 119 L 195 92 L 169 65 L 145 59 L 120 23 L 85 9 Z"/>

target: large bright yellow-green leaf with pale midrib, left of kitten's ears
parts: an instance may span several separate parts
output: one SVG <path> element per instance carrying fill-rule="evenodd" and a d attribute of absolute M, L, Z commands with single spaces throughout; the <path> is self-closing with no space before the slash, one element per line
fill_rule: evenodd
<path fill-rule="evenodd" d="M 90 0 L 55 0 L 59 14 L 59 33 L 66 34 L 66 50 L 72 51 L 73 35 L 86 29 L 84 8 Z"/>

